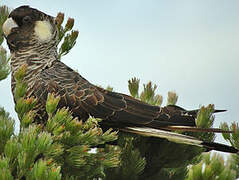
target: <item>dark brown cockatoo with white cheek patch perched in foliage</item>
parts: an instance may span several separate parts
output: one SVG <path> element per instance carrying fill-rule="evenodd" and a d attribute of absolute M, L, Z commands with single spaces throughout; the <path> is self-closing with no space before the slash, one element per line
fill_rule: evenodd
<path fill-rule="evenodd" d="M 207 150 L 239 152 L 232 146 L 205 142 L 174 131 L 224 132 L 217 128 L 197 127 L 195 121 L 199 109 L 186 110 L 176 105 L 154 106 L 126 94 L 105 90 L 61 62 L 57 53 L 57 22 L 53 16 L 30 6 L 20 6 L 9 14 L 2 29 L 11 52 L 12 93 L 16 89 L 14 73 L 26 64 L 26 96 L 37 98 L 38 123 L 46 123 L 47 96 L 54 93 L 60 97 L 58 108 L 68 107 L 74 117 L 82 120 L 87 120 L 89 116 L 101 118 L 104 128 L 165 138 Z M 222 111 L 215 110 L 214 113 Z"/>

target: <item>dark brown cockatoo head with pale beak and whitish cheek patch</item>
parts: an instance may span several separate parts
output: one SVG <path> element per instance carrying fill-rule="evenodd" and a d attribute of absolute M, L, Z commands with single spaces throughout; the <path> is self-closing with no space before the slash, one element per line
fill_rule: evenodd
<path fill-rule="evenodd" d="M 55 18 L 29 6 L 14 9 L 2 29 L 11 52 L 32 45 L 57 44 Z"/>

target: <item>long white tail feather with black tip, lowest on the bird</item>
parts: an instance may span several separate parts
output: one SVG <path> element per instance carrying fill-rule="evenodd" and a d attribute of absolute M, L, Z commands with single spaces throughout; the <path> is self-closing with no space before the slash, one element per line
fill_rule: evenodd
<path fill-rule="evenodd" d="M 229 153 L 239 153 L 239 150 L 235 149 L 232 146 L 227 146 L 224 144 L 214 143 L 214 142 L 204 142 L 192 136 L 187 136 L 187 135 L 178 134 L 178 133 L 160 130 L 160 129 L 153 129 L 148 127 L 127 127 L 122 130 L 126 132 L 144 135 L 144 136 L 165 138 L 171 142 L 204 147 L 209 151 L 216 150 L 216 151 L 229 152 Z"/>

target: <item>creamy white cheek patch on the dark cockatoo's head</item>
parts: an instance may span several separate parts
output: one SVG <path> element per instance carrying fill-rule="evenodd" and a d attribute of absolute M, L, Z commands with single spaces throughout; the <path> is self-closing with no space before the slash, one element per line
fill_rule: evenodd
<path fill-rule="evenodd" d="M 52 38 L 52 26 L 48 21 L 36 21 L 34 31 L 41 42 L 48 42 Z"/>

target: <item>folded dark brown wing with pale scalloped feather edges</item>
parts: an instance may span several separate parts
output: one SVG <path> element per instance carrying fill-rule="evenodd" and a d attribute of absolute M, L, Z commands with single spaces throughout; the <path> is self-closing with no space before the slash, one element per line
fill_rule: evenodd
<path fill-rule="evenodd" d="M 48 93 L 60 95 L 59 107 L 69 107 L 73 114 L 87 118 L 87 114 L 104 119 L 110 126 L 167 127 L 195 126 L 195 118 L 181 113 L 175 106 L 161 108 L 130 96 L 94 86 L 60 61 L 36 76 L 34 95 L 42 103 Z"/>

